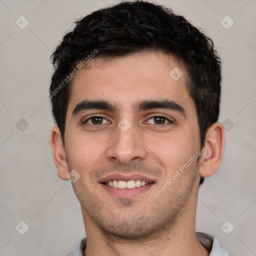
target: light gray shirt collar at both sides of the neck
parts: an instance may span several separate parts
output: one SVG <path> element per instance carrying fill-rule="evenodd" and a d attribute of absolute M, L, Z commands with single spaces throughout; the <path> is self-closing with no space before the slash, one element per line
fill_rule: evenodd
<path fill-rule="evenodd" d="M 196 237 L 202 246 L 210 251 L 209 256 L 228 256 L 227 251 L 220 247 L 218 239 L 210 234 L 196 232 Z M 75 247 L 65 256 L 82 256 L 82 251 L 86 247 L 86 237 L 81 238 Z"/>

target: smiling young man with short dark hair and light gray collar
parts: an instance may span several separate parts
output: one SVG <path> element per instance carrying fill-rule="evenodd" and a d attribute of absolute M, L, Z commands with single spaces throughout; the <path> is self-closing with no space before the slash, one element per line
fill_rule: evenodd
<path fill-rule="evenodd" d="M 67 255 L 227 255 L 195 232 L 218 168 L 221 62 L 171 9 L 123 2 L 76 22 L 52 55 L 50 144 L 86 238 Z"/>

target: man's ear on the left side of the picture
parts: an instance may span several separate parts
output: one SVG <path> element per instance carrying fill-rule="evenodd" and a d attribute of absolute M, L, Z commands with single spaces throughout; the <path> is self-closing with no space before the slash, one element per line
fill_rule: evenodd
<path fill-rule="evenodd" d="M 53 154 L 54 163 L 58 169 L 58 176 L 63 180 L 68 180 L 68 166 L 66 153 L 62 142 L 59 127 L 54 126 L 50 133 L 50 146 Z"/>

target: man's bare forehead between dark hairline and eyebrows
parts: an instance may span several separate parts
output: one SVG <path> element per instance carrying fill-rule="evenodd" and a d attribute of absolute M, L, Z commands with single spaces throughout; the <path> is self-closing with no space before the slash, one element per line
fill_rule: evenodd
<path fill-rule="evenodd" d="M 193 104 L 186 72 L 172 55 L 143 52 L 107 60 L 90 60 L 73 78 L 68 111 L 82 100 L 107 100 L 119 110 L 141 100 L 174 100 Z"/>

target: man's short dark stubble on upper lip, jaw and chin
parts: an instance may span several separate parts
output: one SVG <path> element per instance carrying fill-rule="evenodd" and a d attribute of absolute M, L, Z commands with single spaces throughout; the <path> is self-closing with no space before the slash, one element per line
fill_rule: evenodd
<path fill-rule="evenodd" d="M 86 182 L 81 178 L 72 185 L 82 211 L 88 215 L 104 235 L 112 235 L 126 240 L 147 240 L 160 236 L 175 226 L 191 193 L 197 169 L 198 161 L 195 161 L 186 169 L 186 173 L 182 173 L 163 192 L 164 195 L 160 195 L 154 202 L 150 202 L 146 198 L 147 202 L 143 207 L 138 205 L 133 198 L 115 198 L 117 211 L 109 208 L 104 198 L 99 198 L 96 191 L 86 186 Z M 97 168 L 91 171 L 90 180 L 98 180 L 114 170 L 121 173 L 152 174 L 166 179 L 164 177 L 166 173 L 157 167 L 132 163 L 128 166 L 115 164 Z M 158 184 L 155 192 L 162 185 Z"/>

